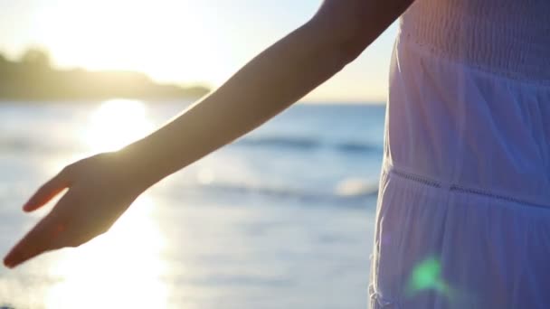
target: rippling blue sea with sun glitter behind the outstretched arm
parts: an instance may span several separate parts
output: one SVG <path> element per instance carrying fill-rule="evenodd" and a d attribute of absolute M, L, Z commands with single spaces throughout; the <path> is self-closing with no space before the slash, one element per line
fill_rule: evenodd
<path fill-rule="evenodd" d="M 52 209 L 21 211 L 63 166 L 188 105 L 0 102 L 0 253 Z M 0 308 L 366 308 L 384 115 L 292 106 L 157 183 L 105 235 L 0 267 Z"/>

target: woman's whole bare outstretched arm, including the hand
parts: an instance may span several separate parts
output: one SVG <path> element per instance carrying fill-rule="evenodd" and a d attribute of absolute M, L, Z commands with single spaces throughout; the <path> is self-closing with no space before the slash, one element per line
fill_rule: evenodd
<path fill-rule="evenodd" d="M 326 0 L 307 23 L 153 134 L 66 166 L 24 204 L 34 211 L 66 191 L 5 266 L 107 232 L 147 188 L 260 126 L 354 61 L 412 1 Z"/>

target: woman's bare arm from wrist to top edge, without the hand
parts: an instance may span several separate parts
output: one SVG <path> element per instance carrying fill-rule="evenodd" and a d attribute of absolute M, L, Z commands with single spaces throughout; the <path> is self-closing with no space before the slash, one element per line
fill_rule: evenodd
<path fill-rule="evenodd" d="M 349 1 L 356 11 L 367 12 L 357 17 L 353 7 L 339 1 L 326 2 L 318 18 L 261 52 L 221 88 L 166 126 L 125 148 L 121 153 L 136 164 L 135 170 L 147 179 L 147 185 L 288 108 L 354 60 L 410 3 L 395 0 L 382 10 L 375 1 L 368 7 L 364 7 L 365 0 Z M 324 9 L 337 13 L 323 14 Z M 346 21 L 350 14 L 371 24 L 357 31 L 358 22 Z"/>

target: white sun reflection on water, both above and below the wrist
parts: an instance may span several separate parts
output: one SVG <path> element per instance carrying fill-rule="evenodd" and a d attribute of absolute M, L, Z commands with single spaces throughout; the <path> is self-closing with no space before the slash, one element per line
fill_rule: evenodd
<path fill-rule="evenodd" d="M 82 135 L 95 153 L 116 150 L 151 129 L 145 105 L 110 100 L 90 117 Z M 144 194 L 103 236 L 69 249 L 52 265 L 56 278 L 46 308 L 164 308 L 165 239 L 152 215 L 155 201 Z"/>

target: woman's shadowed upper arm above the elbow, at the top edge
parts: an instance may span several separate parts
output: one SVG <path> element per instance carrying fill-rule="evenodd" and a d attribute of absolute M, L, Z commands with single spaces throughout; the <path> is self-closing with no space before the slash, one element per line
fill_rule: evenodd
<path fill-rule="evenodd" d="M 310 21 L 327 39 L 357 56 L 414 0 L 324 0 Z"/>

